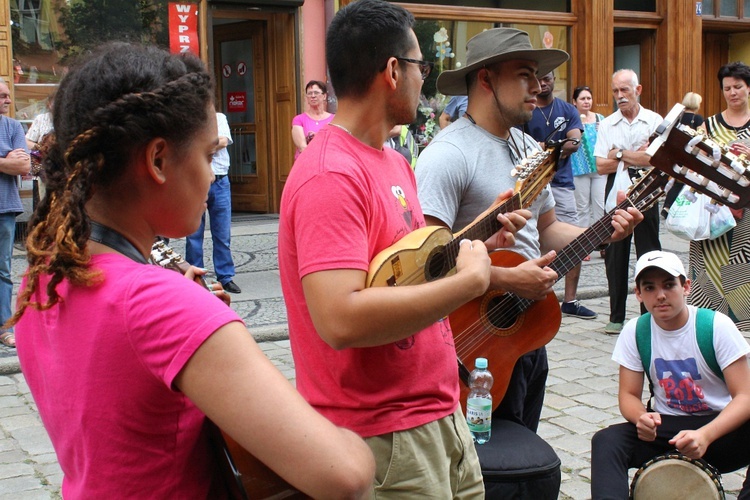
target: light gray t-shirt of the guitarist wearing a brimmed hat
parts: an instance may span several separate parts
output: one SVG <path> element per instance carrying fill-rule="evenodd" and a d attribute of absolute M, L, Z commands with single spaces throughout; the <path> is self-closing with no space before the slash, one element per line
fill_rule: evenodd
<path fill-rule="evenodd" d="M 440 131 L 419 155 L 415 169 L 424 214 L 445 222 L 455 233 L 484 212 L 498 194 L 514 188 L 511 169 L 539 145 L 520 130 L 511 129 L 511 134 L 512 140 L 500 139 L 465 117 Z M 529 207 L 532 218 L 516 234 L 513 251 L 527 259 L 539 257 L 537 220 L 554 206 L 549 186 L 545 187 Z"/>

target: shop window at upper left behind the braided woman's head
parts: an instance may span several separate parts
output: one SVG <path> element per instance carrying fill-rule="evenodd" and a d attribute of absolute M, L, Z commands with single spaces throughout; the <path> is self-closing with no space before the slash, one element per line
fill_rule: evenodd
<path fill-rule="evenodd" d="M 183 0 L 197 4 L 198 0 Z M 15 117 L 29 125 L 81 53 L 108 41 L 169 48 L 168 0 L 10 0 Z"/>

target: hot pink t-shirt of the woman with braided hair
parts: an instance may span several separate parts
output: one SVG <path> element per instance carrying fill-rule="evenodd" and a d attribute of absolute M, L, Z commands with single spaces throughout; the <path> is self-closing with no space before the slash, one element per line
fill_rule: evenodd
<path fill-rule="evenodd" d="M 241 320 L 174 271 L 119 254 L 91 265 L 101 285 L 64 281 L 62 302 L 26 309 L 16 327 L 63 497 L 206 498 L 216 471 L 205 416 L 172 383 L 206 338 Z M 46 302 L 47 282 L 32 301 Z"/>

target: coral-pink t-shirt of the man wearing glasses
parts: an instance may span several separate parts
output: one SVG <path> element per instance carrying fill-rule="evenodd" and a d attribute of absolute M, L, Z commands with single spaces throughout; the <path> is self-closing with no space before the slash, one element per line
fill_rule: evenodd
<path fill-rule="evenodd" d="M 400 342 L 336 351 L 310 319 L 301 279 L 331 269 L 367 271 L 370 260 L 424 227 L 403 156 L 326 127 L 284 187 L 279 269 L 297 389 L 328 419 L 363 437 L 411 429 L 455 411 L 453 335 L 439 321 Z"/>

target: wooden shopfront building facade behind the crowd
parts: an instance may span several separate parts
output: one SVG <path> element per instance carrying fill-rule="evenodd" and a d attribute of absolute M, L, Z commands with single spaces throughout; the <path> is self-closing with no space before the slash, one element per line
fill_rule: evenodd
<path fill-rule="evenodd" d="M 305 82 L 327 80 L 325 29 L 354 0 L 0 0 L 0 76 L 12 82 L 14 115 L 26 124 L 76 54 L 108 40 L 191 50 L 216 78 L 217 108 L 235 143 L 230 178 L 238 211 L 277 212 L 292 168 L 291 120 L 304 111 Z M 555 92 L 569 99 L 591 88 L 594 110 L 613 109 L 616 69 L 636 70 L 644 106 L 665 114 L 688 91 L 702 114 L 724 108 L 718 68 L 750 60 L 750 0 L 413 0 L 426 60 L 437 71 L 423 87 L 413 130 L 426 144 L 447 97 L 440 71 L 465 61 L 466 41 L 484 29 L 512 26 L 537 47 L 571 54 Z M 331 107 L 335 108 L 332 96 Z"/>

